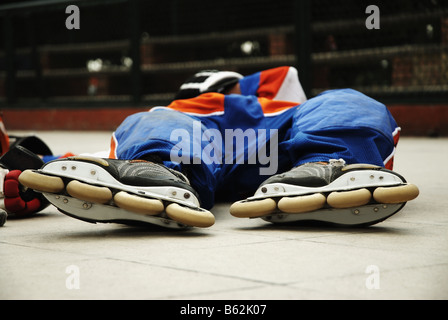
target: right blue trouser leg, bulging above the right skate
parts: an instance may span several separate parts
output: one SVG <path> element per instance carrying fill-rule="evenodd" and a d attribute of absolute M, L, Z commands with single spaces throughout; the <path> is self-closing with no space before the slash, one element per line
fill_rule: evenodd
<path fill-rule="evenodd" d="M 397 124 L 386 106 L 351 89 L 330 90 L 303 103 L 285 141 L 292 162 L 344 159 L 384 166 Z"/>

